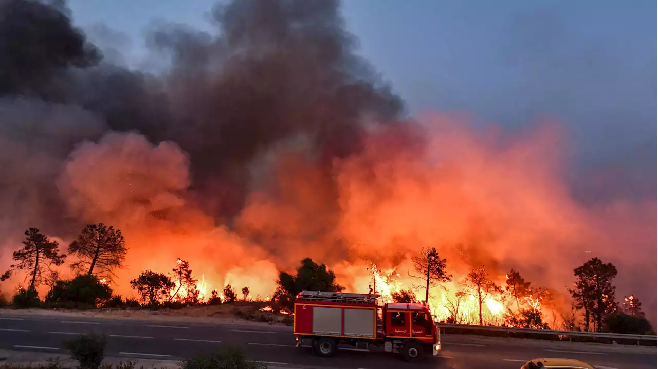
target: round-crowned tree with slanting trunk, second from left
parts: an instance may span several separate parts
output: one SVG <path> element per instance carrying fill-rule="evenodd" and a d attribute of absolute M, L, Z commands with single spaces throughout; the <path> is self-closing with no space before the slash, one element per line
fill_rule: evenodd
<path fill-rule="evenodd" d="M 68 246 L 68 255 L 79 258 L 71 269 L 106 278 L 114 275 L 114 268 L 123 267 L 127 251 L 121 231 L 103 223 L 87 225 Z"/>

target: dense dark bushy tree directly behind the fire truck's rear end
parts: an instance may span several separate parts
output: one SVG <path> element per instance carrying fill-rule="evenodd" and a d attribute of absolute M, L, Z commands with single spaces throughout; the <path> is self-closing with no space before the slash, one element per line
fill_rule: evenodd
<path fill-rule="evenodd" d="M 277 288 L 272 299 L 282 306 L 291 308 L 297 293 L 301 291 L 341 292 L 343 286 L 336 283 L 336 274 L 324 264 L 316 264 L 311 258 L 301 261 L 294 276 L 280 272 Z"/>

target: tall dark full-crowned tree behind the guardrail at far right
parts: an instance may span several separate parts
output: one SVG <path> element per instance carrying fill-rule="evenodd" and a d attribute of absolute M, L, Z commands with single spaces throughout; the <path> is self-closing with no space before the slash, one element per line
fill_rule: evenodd
<path fill-rule="evenodd" d="M 603 328 L 603 318 L 617 309 L 615 286 L 612 280 L 617 276 L 617 268 L 611 263 L 603 263 L 593 257 L 580 267 L 574 269 L 575 288 L 569 290 L 576 307 L 585 312 L 585 330 L 590 327 L 590 314 L 594 315 L 596 330 Z"/>

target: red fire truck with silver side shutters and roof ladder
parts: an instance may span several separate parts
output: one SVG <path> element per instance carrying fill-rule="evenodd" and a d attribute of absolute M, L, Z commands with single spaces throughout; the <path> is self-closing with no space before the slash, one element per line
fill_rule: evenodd
<path fill-rule="evenodd" d="M 384 347 L 409 362 L 438 355 L 441 336 L 424 303 L 385 303 L 370 293 L 299 292 L 293 332 L 297 347 L 311 344 L 316 355 L 332 357 L 339 345 Z"/>

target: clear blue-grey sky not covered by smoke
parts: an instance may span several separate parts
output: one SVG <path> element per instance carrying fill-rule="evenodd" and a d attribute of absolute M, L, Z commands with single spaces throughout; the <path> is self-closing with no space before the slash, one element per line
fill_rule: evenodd
<path fill-rule="evenodd" d="M 125 33 L 134 60 L 153 20 L 211 31 L 214 3 L 69 1 L 78 25 Z M 557 118 L 576 165 L 617 165 L 634 192 L 658 191 L 657 1 L 347 0 L 343 14 L 412 114 L 466 111 L 509 129 Z"/>

